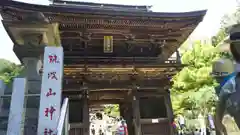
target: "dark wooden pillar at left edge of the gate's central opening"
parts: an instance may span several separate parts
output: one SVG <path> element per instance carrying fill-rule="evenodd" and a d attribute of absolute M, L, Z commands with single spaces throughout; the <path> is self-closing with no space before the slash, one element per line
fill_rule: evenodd
<path fill-rule="evenodd" d="M 83 135 L 89 135 L 89 104 L 88 104 L 88 93 L 84 91 L 83 95 Z"/>

